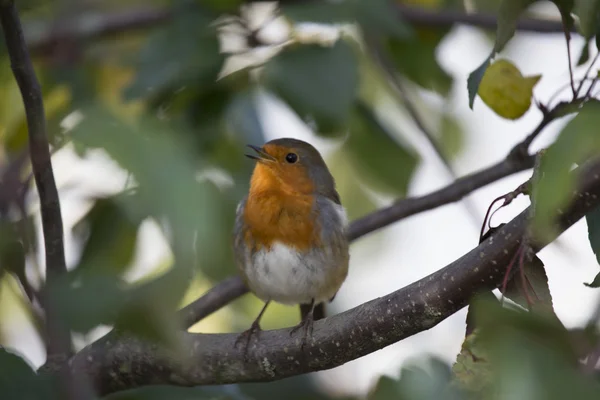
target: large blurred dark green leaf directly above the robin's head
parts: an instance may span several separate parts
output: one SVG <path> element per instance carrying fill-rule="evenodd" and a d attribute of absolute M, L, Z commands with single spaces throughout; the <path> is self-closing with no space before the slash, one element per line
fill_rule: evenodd
<path fill-rule="evenodd" d="M 264 78 L 300 117 L 314 118 L 322 133 L 336 131 L 347 123 L 356 96 L 357 59 L 344 40 L 333 47 L 296 45 L 267 64 Z"/>

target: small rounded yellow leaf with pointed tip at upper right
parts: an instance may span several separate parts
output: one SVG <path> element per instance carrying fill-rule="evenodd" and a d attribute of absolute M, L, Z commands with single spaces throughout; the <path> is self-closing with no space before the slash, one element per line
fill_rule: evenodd
<path fill-rule="evenodd" d="M 488 67 L 479 85 L 479 97 L 499 116 L 515 120 L 529 107 L 533 88 L 542 76 L 524 77 L 508 60 L 497 60 Z"/>

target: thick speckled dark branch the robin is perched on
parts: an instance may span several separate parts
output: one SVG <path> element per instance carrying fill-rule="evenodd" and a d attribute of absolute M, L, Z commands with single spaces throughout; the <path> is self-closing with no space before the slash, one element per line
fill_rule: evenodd
<path fill-rule="evenodd" d="M 559 220 L 562 233 L 600 204 L 600 162 L 581 173 L 572 204 Z M 405 288 L 315 323 L 304 349 L 290 328 L 265 331 L 248 361 L 234 348 L 236 334 L 180 334 L 183 359 L 131 337 L 108 334 L 70 362 L 101 394 L 148 384 L 196 386 L 273 381 L 342 365 L 430 329 L 465 307 L 472 296 L 501 284 L 506 265 L 527 232 L 529 208 L 469 253 Z M 548 243 L 536 243 L 539 251 Z"/>

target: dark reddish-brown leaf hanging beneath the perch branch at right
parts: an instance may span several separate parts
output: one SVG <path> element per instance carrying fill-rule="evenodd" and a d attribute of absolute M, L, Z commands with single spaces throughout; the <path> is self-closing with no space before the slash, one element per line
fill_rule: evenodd
<path fill-rule="evenodd" d="M 534 255 L 530 262 L 525 262 L 522 266 L 514 265 L 513 268 L 523 268 L 525 283 L 523 283 L 521 271 L 518 270 L 506 284 L 504 295 L 525 309 L 531 308 L 533 312 L 556 316 L 552 305 L 552 294 L 548 286 L 548 275 L 546 275 L 542 260 Z M 527 290 L 527 295 L 525 290 Z M 531 304 L 528 303 L 527 296 L 529 296 Z"/>

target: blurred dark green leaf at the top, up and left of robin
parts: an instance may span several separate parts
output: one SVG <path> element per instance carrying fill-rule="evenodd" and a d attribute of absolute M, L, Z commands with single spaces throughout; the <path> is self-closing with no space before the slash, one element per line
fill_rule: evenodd
<path fill-rule="evenodd" d="M 224 62 L 216 30 L 209 26 L 214 17 L 192 3 L 178 8 L 170 24 L 147 39 L 125 98 L 154 97 L 184 86 L 202 89 L 214 83 Z"/>

